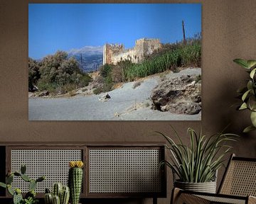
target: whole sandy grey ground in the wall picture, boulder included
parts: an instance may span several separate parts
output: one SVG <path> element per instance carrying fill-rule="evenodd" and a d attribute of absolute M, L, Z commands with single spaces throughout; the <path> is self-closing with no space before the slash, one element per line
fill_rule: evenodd
<path fill-rule="evenodd" d="M 164 72 L 95 95 L 95 82 L 73 94 L 29 94 L 29 120 L 201 120 L 201 68 Z M 73 96 L 73 97 L 70 97 Z"/>

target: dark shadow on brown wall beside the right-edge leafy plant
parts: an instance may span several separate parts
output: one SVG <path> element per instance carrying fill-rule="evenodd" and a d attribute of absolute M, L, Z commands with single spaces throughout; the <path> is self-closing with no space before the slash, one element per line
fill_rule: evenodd
<path fill-rule="evenodd" d="M 245 78 L 246 77 L 240 77 L 239 79 L 242 82 L 242 86 L 245 86 L 245 83 L 243 83 Z M 220 120 L 216 120 L 219 122 L 215 123 L 215 130 L 221 131 L 228 125 L 225 132 L 240 135 L 238 142 L 233 142 L 232 144 L 232 153 L 237 154 L 239 157 L 255 157 L 256 131 L 249 133 L 242 132 L 248 125 L 251 125 L 250 113 L 249 111 L 236 110 L 240 104 L 240 98 L 237 98 L 236 90 L 242 86 L 238 82 L 232 82 L 233 81 L 229 80 L 223 81 L 220 87 L 225 87 L 225 89 L 221 89 L 220 94 L 215 98 L 216 101 L 220 101 L 218 102 L 220 106 L 218 118 Z"/>

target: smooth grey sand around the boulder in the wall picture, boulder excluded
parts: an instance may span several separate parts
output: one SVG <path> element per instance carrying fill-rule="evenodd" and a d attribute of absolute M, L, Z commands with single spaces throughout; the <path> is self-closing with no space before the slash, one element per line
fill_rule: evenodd
<path fill-rule="evenodd" d="M 201 68 L 188 68 L 165 77 L 201 74 Z M 71 98 L 28 98 L 29 120 L 201 120 L 201 113 L 179 115 L 151 110 L 149 96 L 159 84 L 161 75 L 144 79 L 133 89 L 134 81 L 110 91 L 110 99 L 99 101 L 100 95 Z"/>

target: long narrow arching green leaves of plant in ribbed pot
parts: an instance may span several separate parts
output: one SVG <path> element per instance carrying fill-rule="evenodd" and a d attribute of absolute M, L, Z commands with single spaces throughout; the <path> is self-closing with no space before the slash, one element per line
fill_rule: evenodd
<path fill-rule="evenodd" d="M 161 165 L 166 164 L 178 176 L 179 181 L 188 183 L 214 181 L 216 171 L 223 166 L 225 155 L 232 149 L 226 142 L 235 141 L 238 137 L 221 132 L 206 137 L 201 131 L 196 133 L 192 128 L 188 128 L 190 144 L 185 145 L 176 130 L 174 137 L 178 142 L 161 132 L 156 133 L 166 139 L 166 148 L 171 152 L 170 161 L 162 161 Z"/>

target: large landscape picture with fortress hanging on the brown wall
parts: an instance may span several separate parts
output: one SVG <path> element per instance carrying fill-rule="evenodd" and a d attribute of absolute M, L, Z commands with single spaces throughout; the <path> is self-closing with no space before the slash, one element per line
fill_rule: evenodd
<path fill-rule="evenodd" d="M 201 120 L 201 4 L 28 4 L 28 120 Z"/>

